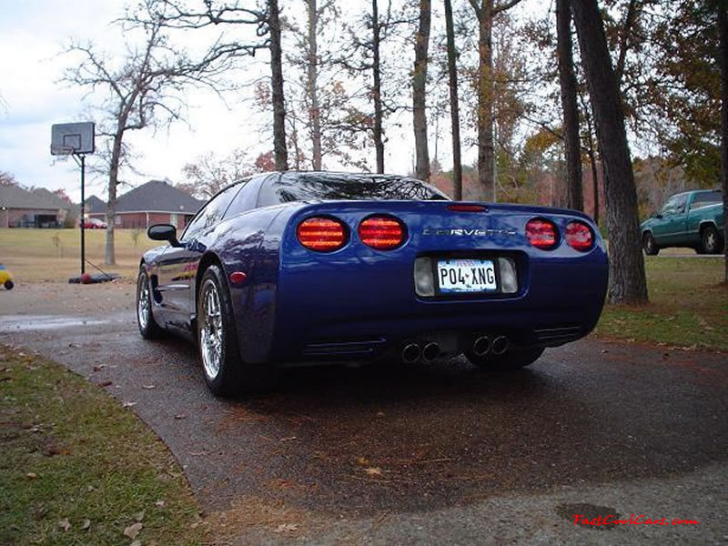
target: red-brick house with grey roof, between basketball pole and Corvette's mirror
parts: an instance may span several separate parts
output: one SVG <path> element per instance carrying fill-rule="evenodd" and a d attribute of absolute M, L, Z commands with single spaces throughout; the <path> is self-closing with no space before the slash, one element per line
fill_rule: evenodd
<path fill-rule="evenodd" d="M 164 180 L 150 180 L 116 197 L 114 225 L 147 228 L 154 224 L 172 224 L 181 229 L 204 204 Z M 106 221 L 106 203 L 101 199 L 88 197 L 86 207 L 86 217 Z"/>

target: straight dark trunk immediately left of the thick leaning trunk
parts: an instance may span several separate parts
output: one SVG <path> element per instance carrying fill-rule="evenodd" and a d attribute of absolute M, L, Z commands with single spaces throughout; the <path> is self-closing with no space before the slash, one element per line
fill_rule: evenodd
<path fill-rule="evenodd" d="M 566 156 L 568 206 L 584 209 L 581 184 L 581 144 L 579 142 L 579 106 L 576 103 L 576 76 L 571 47 L 571 0 L 556 0 L 556 49 L 559 59 L 559 84 L 563 112 L 563 147 Z"/>

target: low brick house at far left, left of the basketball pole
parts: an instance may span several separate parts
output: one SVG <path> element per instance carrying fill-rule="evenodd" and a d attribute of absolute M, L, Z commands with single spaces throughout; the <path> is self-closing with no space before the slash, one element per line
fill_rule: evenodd
<path fill-rule="evenodd" d="M 42 188 L 0 186 L 0 227 L 63 227 L 70 207 Z"/>

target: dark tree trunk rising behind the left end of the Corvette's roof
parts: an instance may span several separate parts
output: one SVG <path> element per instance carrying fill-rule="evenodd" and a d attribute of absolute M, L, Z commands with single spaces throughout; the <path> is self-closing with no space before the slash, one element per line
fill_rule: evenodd
<path fill-rule="evenodd" d="M 286 147 L 286 105 L 283 96 L 283 63 L 280 49 L 280 21 L 278 0 L 268 0 L 268 26 L 270 27 L 270 86 L 273 101 L 273 153 L 276 168 L 288 170 Z"/>

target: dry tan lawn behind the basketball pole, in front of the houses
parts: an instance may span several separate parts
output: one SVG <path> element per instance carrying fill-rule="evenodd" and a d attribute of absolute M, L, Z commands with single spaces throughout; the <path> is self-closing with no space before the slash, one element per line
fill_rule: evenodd
<path fill-rule="evenodd" d="M 160 243 L 147 238 L 146 230 L 116 229 L 116 266 L 104 265 L 106 231 L 86 229 L 86 259 L 107 272 L 136 278 L 139 258 Z M 81 272 L 81 236 L 78 229 L 0 229 L 0 263 L 15 282 L 61 281 Z M 86 264 L 86 272 L 97 273 Z"/>

